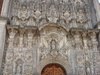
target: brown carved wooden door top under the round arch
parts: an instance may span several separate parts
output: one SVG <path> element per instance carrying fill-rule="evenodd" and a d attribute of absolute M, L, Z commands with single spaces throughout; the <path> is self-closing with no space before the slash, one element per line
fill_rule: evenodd
<path fill-rule="evenodd" d="M 59 64 L 49 64 L 43 68 L 41 75 L 66 75 L 66 72 Z"/>

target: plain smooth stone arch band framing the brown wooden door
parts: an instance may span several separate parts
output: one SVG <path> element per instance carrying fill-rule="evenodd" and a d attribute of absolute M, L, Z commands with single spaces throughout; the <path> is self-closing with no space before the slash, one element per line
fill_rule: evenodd
<path fill-rule="evenodd" d="M 70 75 L 71 73 L 71 67 L 70 65 L 68 64 L 68 61 L 62 59 L 62 60 L 59 60 L 59 59 L 48 59 L 48 60 L 43 60 L 40 62 L 40 64 L 37 66 L 37 74 L 38 75 L 41 75 L 41 72 L 43 70 L 43 68 L 48 65 L 48 64 L 52 64 L 52 63 L 57 63 L 57 64 L 60 64 L 64 67 L 65 71 L 67 71 L 67 75 Z"/>

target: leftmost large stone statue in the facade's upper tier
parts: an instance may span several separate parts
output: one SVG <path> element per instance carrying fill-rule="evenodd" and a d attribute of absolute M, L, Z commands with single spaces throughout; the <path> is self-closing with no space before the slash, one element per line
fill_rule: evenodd
<path fill-rule="evenodd" d="M 20 9 L 19 12 L 19 18 L 21 18 L 22 20 L 28 19 L 29 14 L 28 14 L 28 9 L 26 5 L 22 5 L 22 8 Z"/>

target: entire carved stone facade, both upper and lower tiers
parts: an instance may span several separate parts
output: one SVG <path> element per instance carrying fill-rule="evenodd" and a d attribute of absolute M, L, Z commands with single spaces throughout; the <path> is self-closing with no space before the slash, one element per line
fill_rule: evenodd
<path fill-rule="evenodd" d="M 26 5 L 23 5 L 24 2 Z M 36 6 L 36 1 L 13 1 L 11 24 L 14 25 L 12 26 L 14 30 L 10 31 L 7 29 L 9 31 L 9 37 L 7 38 L 8 45 L 5 64 L 10 63 L 14 65 L 16 60 L 22 59 L 25 65 L 16 64 L 16 68 L 12 65 L 6 65 L 4 66 L 3 75 L 22 75 L 22 71 L 25 75 L 33 75 L 32 65 L 34 62 L 33 59 L 35 58 L 33 52 L 35 52 L 35 50 L 37 50 L 37 57 L 39 57 L 38 63 L 46 58 L 61 58 L 67 60 L 69 63 L 71 61 L 69 59 L 70 51 L 73 51 L 76 55 L 75 66 L 77 67 L 75 68 L 77 69 L 77 75 L 91 75 L 91 54 L 89 54 L 89 51 L 97 51 L 98 49 L 96 38 L 97 31 L 78 30 L 78 28 L 85 29 L 84 25 L 87 24 L 85 16 L 88 17 L 88 20 L 91 20 L 89 5 L 83 6 L 85 9 L 85 11 L 83 11 L 83 7 L 81 6 L 84 5 L 82 4 L 83 0 L 59 0 L 58 4 L 60 4 L 60 8 L 56 7 L 58 4 L 54 2 L 50 4 L 46 0 L 41 0 L 40 5 Z M 84 0 L 84 2 L 88 4 L 88 0 Z M 48 6 L 49 4 L 50 7 Z M 65 8 L 65 5 L 68 5 L 66 6 L 67 8 Z M 48 25 L 52 27 L 58 27 L 57 29 L 48 27 L 46 31 L 43 30 L 45 32 L 42 34 L 39 25 L 42 26 L 47 22 L 49 22 Z M 59 22 L 60 24 L 58 24 Z M 55 23 L 55 25 L 53 25 L 53 23 Z M 16 27 L 15 25 L 19 26 Z M 63 27 L 63 25 L 65 25 L 65 27 Z M 77 29 L 75 31 L 72 31 L 72 29 L 70 30 L 74 25 L 76 25 Z M 38 26 L 38 29 L 35 30 L 36 26 Z M 60 27 L 65 28 L 62 30 L 66 30 L 66 33 L 60 30 Z M 34 31 L 28 32 L 28 29 L 31 28 L 35 30 L 35 34 Z M 50 35 L 51 33 L 53 34 L 52 36 Z M 44 40 L 40 41 L 42 38 L 44 38 Z M 62 39 L 66 39 L 67 42 L 61 42 Z M 60 43 L 63 44 L 61 45 Z M 38 56 L 38 46 L 40 56 Z M 77 51 L 80 52 L 77 53 Z M 94 66 L 95 75 L 99 75 L 99 54 L 96 53 L 94 57 L 94 65 L 97 65 Z M 86 62 L 89 62 L 89 65 L 87 65 Z M 15 70 L 15 72 L 13 72 L 12 69 Z"/>

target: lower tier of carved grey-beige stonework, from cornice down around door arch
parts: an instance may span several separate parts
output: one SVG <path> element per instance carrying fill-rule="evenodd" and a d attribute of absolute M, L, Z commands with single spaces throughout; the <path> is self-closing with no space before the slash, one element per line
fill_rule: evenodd
<path fill-rule="evenodd" d="M 24 60 L 23 63 L 25 64 L 30 64 L 30 66 L 27 68 L 24 68 L 24 74 L 33 74 L 32 69 L 33 66 L 33 50 L 35 45 L 33 44 L 36 41 L 35 32 L 34 28 L 19 28 L 13 26 L 13 29 L 8 26 L 8 31 L 9 31 L 9 38 L 8 39 L 14 39 L 18 38 L 19 42 L 18 46 L 15 47 L 14 45 L 12 48 L 7 49 L 7 54 L 6 54 L 6 64 L 7 63 L 12 63 L 14 61 L 17 61 L 19 59 Z M 12 30 L 11 30 L 12 29 Z M 81 33 L 81 30 L 71 30 L 71 32 L 65 33 L 63 29 L 56 29 L 56 27 L 48 27 L 40 31 L 41 35 L 39 38 L 42 40 L 39 42 L 35 42 L 35 44 L 38 44 L 39 47 L 39 61 L 41 62 L 42 60 L 51 58 L 51 59 L 65 59 L 66 61 L 69 61 L 69 51 L 70 49 L 76 49 L 76 51 L 80 51 L 76 55 L 76 66 L 77 66 L 77 74 L 83 75 L 87 74 L 91 75 L 91 66 L 87 65 L 85 62 L 91 62 L 90 54 L 89 51 L 91 51 L 88 47 L 88 42 L 96 42 L 96 33 L 93 33 L 92 31 L 87 31 L 84 33 Z M 42 34 L 43 33 L 43 34 Z M 91 33 L 91 34 L 90 34 Z M 65 35 L 67 34 L 68 37 Z M 91 35 L 91 36 L 90 36 Z M 35 36 L 35 37 L 34 37 Z M 81 39 L 82 38 L 82 39 Z M 27 39 L 27 40 L 26 40 Z M 35 41 L 33 40 L 35 39 Z M 66 39 L 66 40 L 65 40 Z M 59 41 L 58 41 L 59 40 Z M 89 40 L 89 41 L 88 41 Z M 13 40 L 13 42 L 16 40 Z M 75 41 L 75 42 L 72 42 Z M 10 42 L 10 41 L 8 41 Z M 24 47 L 25 42 L 27 45 Z M 71 44 L 71 45 L 68 45 Z M 82 45 L 83 44 L 83 45 Z M 93 43 L 95 45 L 95 43 Z M 72 47 L 73 48 L 70 48 Z M 84 47 L 81 49 L 81 46 Z M 86 48 L 87 47 L 87 48 Z M 77 49 L 79 48 L 79 49 Z M 89 49 L 89 50 L 87 50 Z M 37 49 L 38 50 L 38 49 Z M 14 52 L 13 52 L 14 51 Z M 99 55 L 98 55 L 99 56 Z M 98 58 L 98 57 L 96 57 Z M 22 63 L 17 64 L 16 63 L 16 68 L 15 74 L 16 75 L 22 75 L 22 71 L 20 71 L 20 68 L 23 68 L 20 66 L 24 66 Z M 95 64 L 99 64 L 99 59 L 98 62 Z M 18 67 L 18 70 L 17 70 Z M 10 67 L 8 67 L 10 68 Z M 96 69 L 96 68 L 95 68 Z M 11 69 L 10 69 L 11 70 Z M 86 71 L 85 71 L 86 70 Z M 21 73 L 20 73 L 21 72 Z M 99 71 L 98 71 L 99 72 Z M 98 73 L 97 72 L 97 73 Z M 9 71 L 6 66 L 4 67 L 4 74 L 13 74 L 12 71 Z"/>

